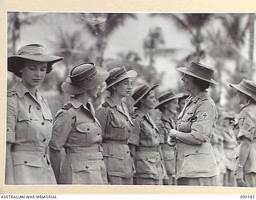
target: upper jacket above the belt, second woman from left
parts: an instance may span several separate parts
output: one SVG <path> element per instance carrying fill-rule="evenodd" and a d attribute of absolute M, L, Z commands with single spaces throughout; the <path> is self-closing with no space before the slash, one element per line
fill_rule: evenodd
<path fill-rule="evenodd" d="M 83 105 L 77 99 L 70 98 L 54 118 L 50 147 L 62 150 L 63 147 L 89 147 L 101 142 L 102 129 L 94 116 L 93 106 L 90 103 Z"/>

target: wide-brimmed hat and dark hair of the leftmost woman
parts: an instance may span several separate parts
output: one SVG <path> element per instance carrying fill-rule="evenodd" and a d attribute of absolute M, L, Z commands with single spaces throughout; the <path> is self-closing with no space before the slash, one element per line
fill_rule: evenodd
<path fill-rule="evenodd" d="M 18 55 L 8 58 L 8 71 L 13 72 L 18 77 L 22 77 L 20 70 L 23 68 L 26 60 L 48 62 L 46 73 L 50 73 L 51 66 L 55 62 L 61 61 L 63 58 L 55 55 L 47 54 L 46 48 L 39 44 L 30 44 L 22 46 L 18 50 Z"/>

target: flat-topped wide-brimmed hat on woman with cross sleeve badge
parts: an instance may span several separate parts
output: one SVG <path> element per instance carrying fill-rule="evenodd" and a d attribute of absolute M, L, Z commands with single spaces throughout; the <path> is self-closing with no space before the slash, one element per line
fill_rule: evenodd
<path fill-rule="evenodd" d="M 203 81 L 218 85 L 218 82 L 214 81 L 214 79 L 212 78 L 214 74 L 214 70 L 211 70 L 210 68 L 202 65 L 199 62 L 191 62 L 190 66 L 179 67 L 177 68 L 177 70 L 184 74 L 193 76 L 195 78 L 199 78 Z"/>

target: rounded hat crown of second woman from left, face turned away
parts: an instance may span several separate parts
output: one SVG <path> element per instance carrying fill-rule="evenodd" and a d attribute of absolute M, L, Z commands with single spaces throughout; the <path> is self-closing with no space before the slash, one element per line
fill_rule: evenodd
<path fill-rule="evenodd" d="M 88 82 L 97 74 L 94 62 L 85 62 L 70 71 L 70 79 L 73 83 Z"/>

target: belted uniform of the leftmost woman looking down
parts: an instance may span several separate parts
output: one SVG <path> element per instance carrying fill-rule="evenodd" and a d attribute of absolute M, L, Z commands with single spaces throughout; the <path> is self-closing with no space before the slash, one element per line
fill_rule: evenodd
<path fill-rule="evenodd" d="M 38 90 L 32 96 L 22 82 L 7 92 L 6 142 L 10 142 L 15 184 L 56 183 L 46 147 L 52 116 Z M 42 171 L 45 171 L 42 176 Z"/>

